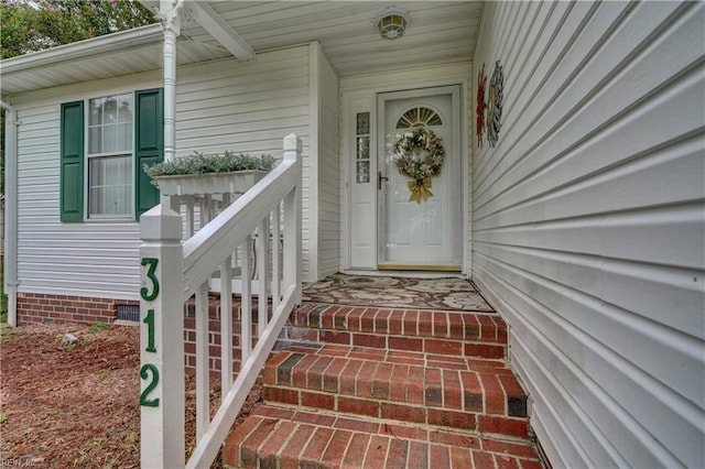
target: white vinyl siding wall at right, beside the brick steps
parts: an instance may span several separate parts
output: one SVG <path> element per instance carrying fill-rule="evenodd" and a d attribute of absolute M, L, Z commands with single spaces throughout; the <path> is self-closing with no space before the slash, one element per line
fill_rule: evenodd
<path fill-rule="evenodd" d="M 500 59 L 505 100 L 473 279 L 553 467 L 705 466 L 703 24 L 696 2 L 485 6 L 475 74 Z"/>

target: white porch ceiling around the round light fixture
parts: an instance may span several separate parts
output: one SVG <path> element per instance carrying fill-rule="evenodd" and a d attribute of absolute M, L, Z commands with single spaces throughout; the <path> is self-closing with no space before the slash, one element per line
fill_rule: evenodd
<path fill-rule="evenodd" d="M 375 18 L 405 8 L 403 37 L 382 40 Z M 339 76 L 469 61 L 475 53 L 481 1 L 216 1 L 215 12 L 256 51 L 318 41 Z M 195 43 L 220 47 L 198 24 L 182 26 Z"/>

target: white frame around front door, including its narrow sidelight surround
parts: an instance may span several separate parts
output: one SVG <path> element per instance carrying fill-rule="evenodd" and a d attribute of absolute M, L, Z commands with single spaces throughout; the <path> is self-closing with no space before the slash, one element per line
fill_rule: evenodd
<path fill-rule="evenodd" d="M 345 90 L 341 87 L 341 106 L 340 106 L 340 123 L 341 128 L 341 141 L 340 141 L 340 154 L 341 154 L 341 184 L 340 184 L 340 199 L 341 199 L 341 252 L 340 252 L 340 266 L 343 272 L 348 273 L 376 273 L 382 275 L 393 274 L 394 272 L 390 271 L 378 271 L 377 270 L 377 260 L 375 260 L 375 265 L 355 265 L 355 261 L 352 260 L 352 192 L 356 173 L 354 171 L 354 165 L 356 161 L 355 154 L 355 145 L 356 145 L 356 135 L 355 135 L 355 127 L 356 127 L 356 113 L 361 111 L 368 111 L 371 114 L 371 126 L 373 129 L 371 130 L 372 141 L 370 142 L 370 148 L 375 152 L 373 155 L 370 155 L 370 161 L 373 162 L 370 167 L 370 174 L 377 175 L 377 126 L 378 126 L 378 110 L 377 110 L 377 97 L 382 92 L 390 91 L 404 91 L 404 90 L 419 90 L 421 88 L 440 88 L 448 85 L 459 85 L 460 86 L 460 106 L 459 106 L 459 122 L 460 122 L 460 143 L 459 143 L 459 152 L 462 157 L 462 204 L 463 207 L 463 233 L 462 233 L 462 274 L 463 276 L 469 277 L 470 272 L 470 249 L 469 249 L 469 223 L 471 215 L 469 214 L 469 197 L 471 194 L 470 190 L 470 163 L 469 163 L 469 151 L 470 151 L 470 142 L 468 140 L 468 114 L 467 110 L 469 108 L 468 101 L 468 79 L 466 77 L 463 78 L 447 78 L 443 80 L 438 80 L 435 84 L 431 85 L 430 83 L 410 83 L 408 86 L 400 87 L 399 85 L 389 85 L 389 86 L 380 86 L 373 89 L 349 89 Z M 372 179 L 375 183 L 375 193 L 377 192 L 377 181 Z M 377 195 L 375 195 L 375 201 L 377 200 Z M 375 207 L 377 207 L 377 203 L 375 203 Z M 376 228 L 376 227 L 375 227 Z M 377 229 L 375 229 L 375 239 L 373 239 L 373 249 L 377 252 Z M 431 273 L 429 273 L 431 274 Z M 447 273 L 446 273 L 447 274 Z"/>

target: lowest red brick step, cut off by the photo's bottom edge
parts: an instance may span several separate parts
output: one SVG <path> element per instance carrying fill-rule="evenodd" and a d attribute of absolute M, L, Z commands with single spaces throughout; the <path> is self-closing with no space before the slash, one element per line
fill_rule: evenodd
<path fill-rule="evenodd" d="M 226 441 L 238 468 L 541 469 L 533 446 L 434 426 L 263 405 Z"/>

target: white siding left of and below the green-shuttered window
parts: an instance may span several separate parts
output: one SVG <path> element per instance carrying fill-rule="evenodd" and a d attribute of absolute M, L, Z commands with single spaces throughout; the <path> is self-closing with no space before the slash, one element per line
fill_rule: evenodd
<path fill-rule="evenodd" d="M 61 223 L 59 106 L 18 110 L 19 292 L 135 298 L 134 222 Z"/>

